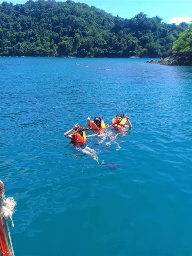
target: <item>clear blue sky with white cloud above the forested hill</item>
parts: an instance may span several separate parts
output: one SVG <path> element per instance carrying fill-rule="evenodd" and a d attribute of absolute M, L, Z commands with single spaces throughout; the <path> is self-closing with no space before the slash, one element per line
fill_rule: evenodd
<path fill-rule="evenodd" d="M 0 0 L 0 3 L 3 2 Z M 26 0 L 10 0 L 13 4 L 25 3 Z M 119 15 L 123 18 L 132 18 L 141 11 L 148 17 L 161 17 L 164 22 L 180 23 L 192 18 L 192 0 L 74 0 L 88 5 L 94 5 L 107 13 Z M 179 18 L 180 17 L 180 18 Z"/>

